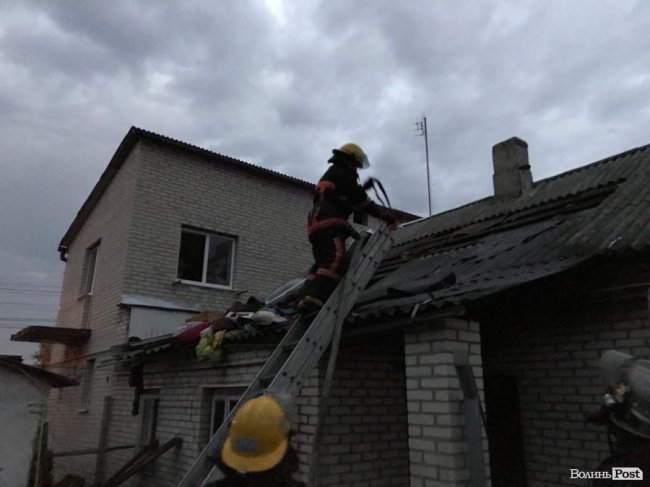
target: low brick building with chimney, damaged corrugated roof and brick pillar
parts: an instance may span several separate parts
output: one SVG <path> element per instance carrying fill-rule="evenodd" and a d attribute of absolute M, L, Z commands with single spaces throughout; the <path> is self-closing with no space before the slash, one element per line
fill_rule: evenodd
<path fill-rule="evenodd" d="M 548 487 L 609 454 L 585 425 L 601 354 L 650 355 L 650 147 L 533 181 L 513 138 L 493 163 L 493 196 L 396 233 L 348 325 L 404 337 L 411 486 L 468 485 L 459 355 L 484 389 L 493 483 Z"/>

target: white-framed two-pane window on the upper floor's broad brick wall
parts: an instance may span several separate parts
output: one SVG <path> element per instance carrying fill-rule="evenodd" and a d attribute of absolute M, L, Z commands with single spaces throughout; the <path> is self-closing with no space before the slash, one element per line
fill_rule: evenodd
<path fill-rule="evenodd" d="M 178 258 L 178 278 L 230 288 L 234 259 L 234 238 L 184 229 Z"/>

